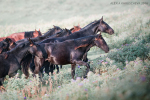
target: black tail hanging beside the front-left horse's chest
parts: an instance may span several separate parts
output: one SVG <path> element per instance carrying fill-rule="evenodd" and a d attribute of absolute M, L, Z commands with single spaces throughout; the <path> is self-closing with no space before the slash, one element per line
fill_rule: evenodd
<path fill-rule="evenodd" d="M 29 53 L 21 61 L 22 72 L 26 75 L 26 78 L 29 77 L 29 70 L 28 69 L 29 69 L 31 60 L 32 60 L 32 55 Z"/>

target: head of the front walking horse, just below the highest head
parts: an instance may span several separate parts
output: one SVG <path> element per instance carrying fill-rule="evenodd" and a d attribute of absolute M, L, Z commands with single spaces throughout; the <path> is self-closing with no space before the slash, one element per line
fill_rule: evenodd
<path fill-rule="evenodd" d="M 105 42 L 104 38 L 102 37 L 101 33 L 96 35 L 94 42 L 96 46 L 104 50 L 106 53 L 109 52 L 109 47 Z"/>

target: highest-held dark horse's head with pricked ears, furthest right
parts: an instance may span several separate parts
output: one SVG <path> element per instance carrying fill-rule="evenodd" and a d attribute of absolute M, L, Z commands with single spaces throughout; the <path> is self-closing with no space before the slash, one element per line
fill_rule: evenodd
<path fill-rule="evenodd" d="M 103 21 L 103 17 L 100 19 L 100 24 L 95 29 L 96 33 L 98 31 L 105 32 L 110 35 L 114 34 L 114 30 L 106 22 Z"/>

